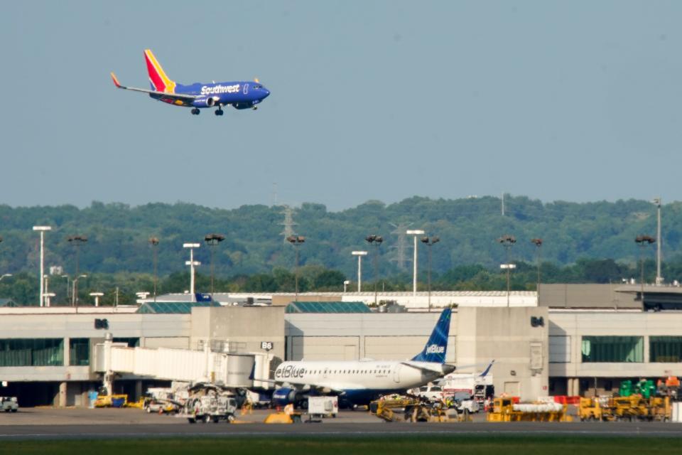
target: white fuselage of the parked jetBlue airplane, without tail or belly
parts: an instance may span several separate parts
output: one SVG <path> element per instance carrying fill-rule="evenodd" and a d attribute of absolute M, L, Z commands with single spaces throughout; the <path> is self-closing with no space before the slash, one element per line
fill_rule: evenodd
<path fill-rule="evenodd" d="M 414 365 L 414 368 L 410 365 Z M 424 368 L 424 371 L 419 368 Z M 395 361 L 283 362 L 274 380 L 330 390 L 406 390 L 439 378 L 440 363 Z"/>

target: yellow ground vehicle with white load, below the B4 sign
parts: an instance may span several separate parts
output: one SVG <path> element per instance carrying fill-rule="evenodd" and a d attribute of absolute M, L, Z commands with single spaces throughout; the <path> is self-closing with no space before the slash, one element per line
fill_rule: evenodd
<path fill-rule="evenodd" d="M 495 398 L 488 422 L 571 422 L 568 405 L 550 402 L 514 403 L 511 398 Z"/>

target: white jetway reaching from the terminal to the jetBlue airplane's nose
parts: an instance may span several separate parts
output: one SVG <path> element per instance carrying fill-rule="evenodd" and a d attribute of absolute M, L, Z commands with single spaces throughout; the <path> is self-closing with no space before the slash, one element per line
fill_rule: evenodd
<path fill-rule="evenodd" d="M 113 343 L 107 333 L 104 343 L 94 349 L 93 372 L 104 373 L 104 387 L 112 390 L 114 375 L 129 375 L 159 380 L 212 382 L 225 387 L 254 387 L 255 378 L 269 378 L 271 358 L 265 353 L 213 352 L 210 343 L 204 350 L 173 348 L 129 348 Z M 264 385 L 255 381 L 256 387 Z"/>

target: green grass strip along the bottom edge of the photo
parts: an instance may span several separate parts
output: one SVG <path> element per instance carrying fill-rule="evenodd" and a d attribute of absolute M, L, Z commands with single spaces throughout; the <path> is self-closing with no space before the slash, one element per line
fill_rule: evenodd
<path fill-rule="evenodd" d="M 324 455 L 324 454 L 682 454 L 682 440 L 659 437 L 396 436 L 206 437 L 1 441 L 0 454 L 65 455 Z"/>

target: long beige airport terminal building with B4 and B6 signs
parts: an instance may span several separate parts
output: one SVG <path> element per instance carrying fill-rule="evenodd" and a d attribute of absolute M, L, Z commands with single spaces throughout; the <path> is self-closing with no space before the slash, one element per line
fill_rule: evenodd
<path fill-rule="evenodd" d="M 543 284 L 539 294 L 439 292 L 432 311 L 426 293 L 377 298 L 395 304 L 372 311 L 374 294 L 348 293 L 301 294 L 298 304 L 290 304 L 293 295 L 247 294 L 193 304 L 180 294 L 115 308 L 4 306 L 1 395 L 23 406 L 87 405 L 87 393 L 102 385 L 97 346 L 107 333 L 119 346 L 252 353 L 269 361 L 266 371 L 283 360 L 406 360 L 423 348 L 444 306 L 453 306 L 448 362 L 473 372 L 494 359 L 497 395 L 603 395 L 626 378 L 682 375 L 678 287 L 647 286 L 644 301 L 637 286 L 598 284 Z M 139 397 L 172 379 L 121 372 L 114 392 Z"/>

